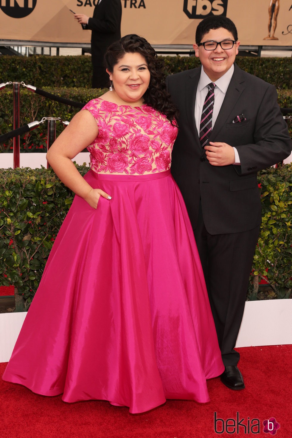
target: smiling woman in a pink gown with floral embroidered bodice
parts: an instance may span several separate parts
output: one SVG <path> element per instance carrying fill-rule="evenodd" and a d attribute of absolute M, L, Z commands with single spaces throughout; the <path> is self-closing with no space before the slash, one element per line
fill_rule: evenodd
<path fill-rule="evenodd" d="M 123 37 L 106 63 L 109 91 L 74 116 L 47 154 L 76 196 L 3 378 L 130 413 L 165 399 L 208 402 L 206 379 L 224 366 L 170 173 L 176 109 L 145 39 Z M 83 178 L 71 159 L 84 147 L 91 170 Z"/>

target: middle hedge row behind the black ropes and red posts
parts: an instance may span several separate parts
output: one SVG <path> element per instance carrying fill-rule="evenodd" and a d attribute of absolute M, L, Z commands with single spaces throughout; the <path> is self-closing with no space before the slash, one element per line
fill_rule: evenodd
<path fill-rule="evenodd" d="M 1 58 L 0 58 L 1 59 Z M 197 59 L 197 58 L 196 58 Z M 62 96 L 77 102 L 88 102 L 90 99 L 103 94 L 104 89 L 92 88 L 49 88 L 43 90 L 54 95 Z M 278 103 L 281 107 L 292 107 L 292 90 L 279 90 Z M 41 95 L 29 91 L 27 88 L 20 89 L 20 126 L 34 120 L 41 120 L 42 117 L 60 117 L 63 121 L 70 121 L 79 111 L 79 108 L 67 106 Z M 288 124 L 292 135 L 292 124 Z M 63 129 L 60 123 L 56 124 L 56 134 L 59 135 Z M 0 91 L 0 133 L 4 134 L 13 130 L 13 90 L 12 87 Z M 47 123 L 39 128 L 21 136 L 21 152 L 38 152 L 46 148 Z M 0 152 L 12 152 L 13 140 L 6 144 L 0 144 Z"/>

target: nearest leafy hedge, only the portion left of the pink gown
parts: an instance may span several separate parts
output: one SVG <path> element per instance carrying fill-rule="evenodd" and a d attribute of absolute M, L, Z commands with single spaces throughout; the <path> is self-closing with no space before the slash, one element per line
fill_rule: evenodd
<path fill-rule="evenodd" d="M 78 169 L 83 175 L 88 170 Z M 0 286 L 14 285 L 17 310 L 27 310 L 32 302 L 72 201 L 72 192 L 51 169 L 1 172 Z"/>

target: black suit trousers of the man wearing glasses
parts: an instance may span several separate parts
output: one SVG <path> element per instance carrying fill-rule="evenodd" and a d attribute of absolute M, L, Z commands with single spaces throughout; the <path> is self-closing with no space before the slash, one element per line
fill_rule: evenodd
<path fill-rule="evenodd" d="M 224 213 L 223 213 L 224 214 Z M 201 208 L 193 230 L 201 258 L 223 363 L 237 365 L 234 350 L 246 302 L 260 226 L 241 233 L 208 233 Z"/>

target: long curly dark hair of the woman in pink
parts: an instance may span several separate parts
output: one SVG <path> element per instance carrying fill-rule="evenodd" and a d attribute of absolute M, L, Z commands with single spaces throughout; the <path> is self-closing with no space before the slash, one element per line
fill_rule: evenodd
<path fill-rule="evenodd" d="M 111 44 L 106 51 L 104 60 L 108 71 L 113 73 L 113 67 L 125 53 L 140 53 L 148 64 L 150 83 L 143 95 L 144 103 L 165 114 L 172 124 L 176 124 L 178 110 L 166 90 L 165 74 L 162 71 L 163 61 L 158 59 L 153 47 L 141 36 L 135 34 L 123 36 L 119 41 Z"/>

